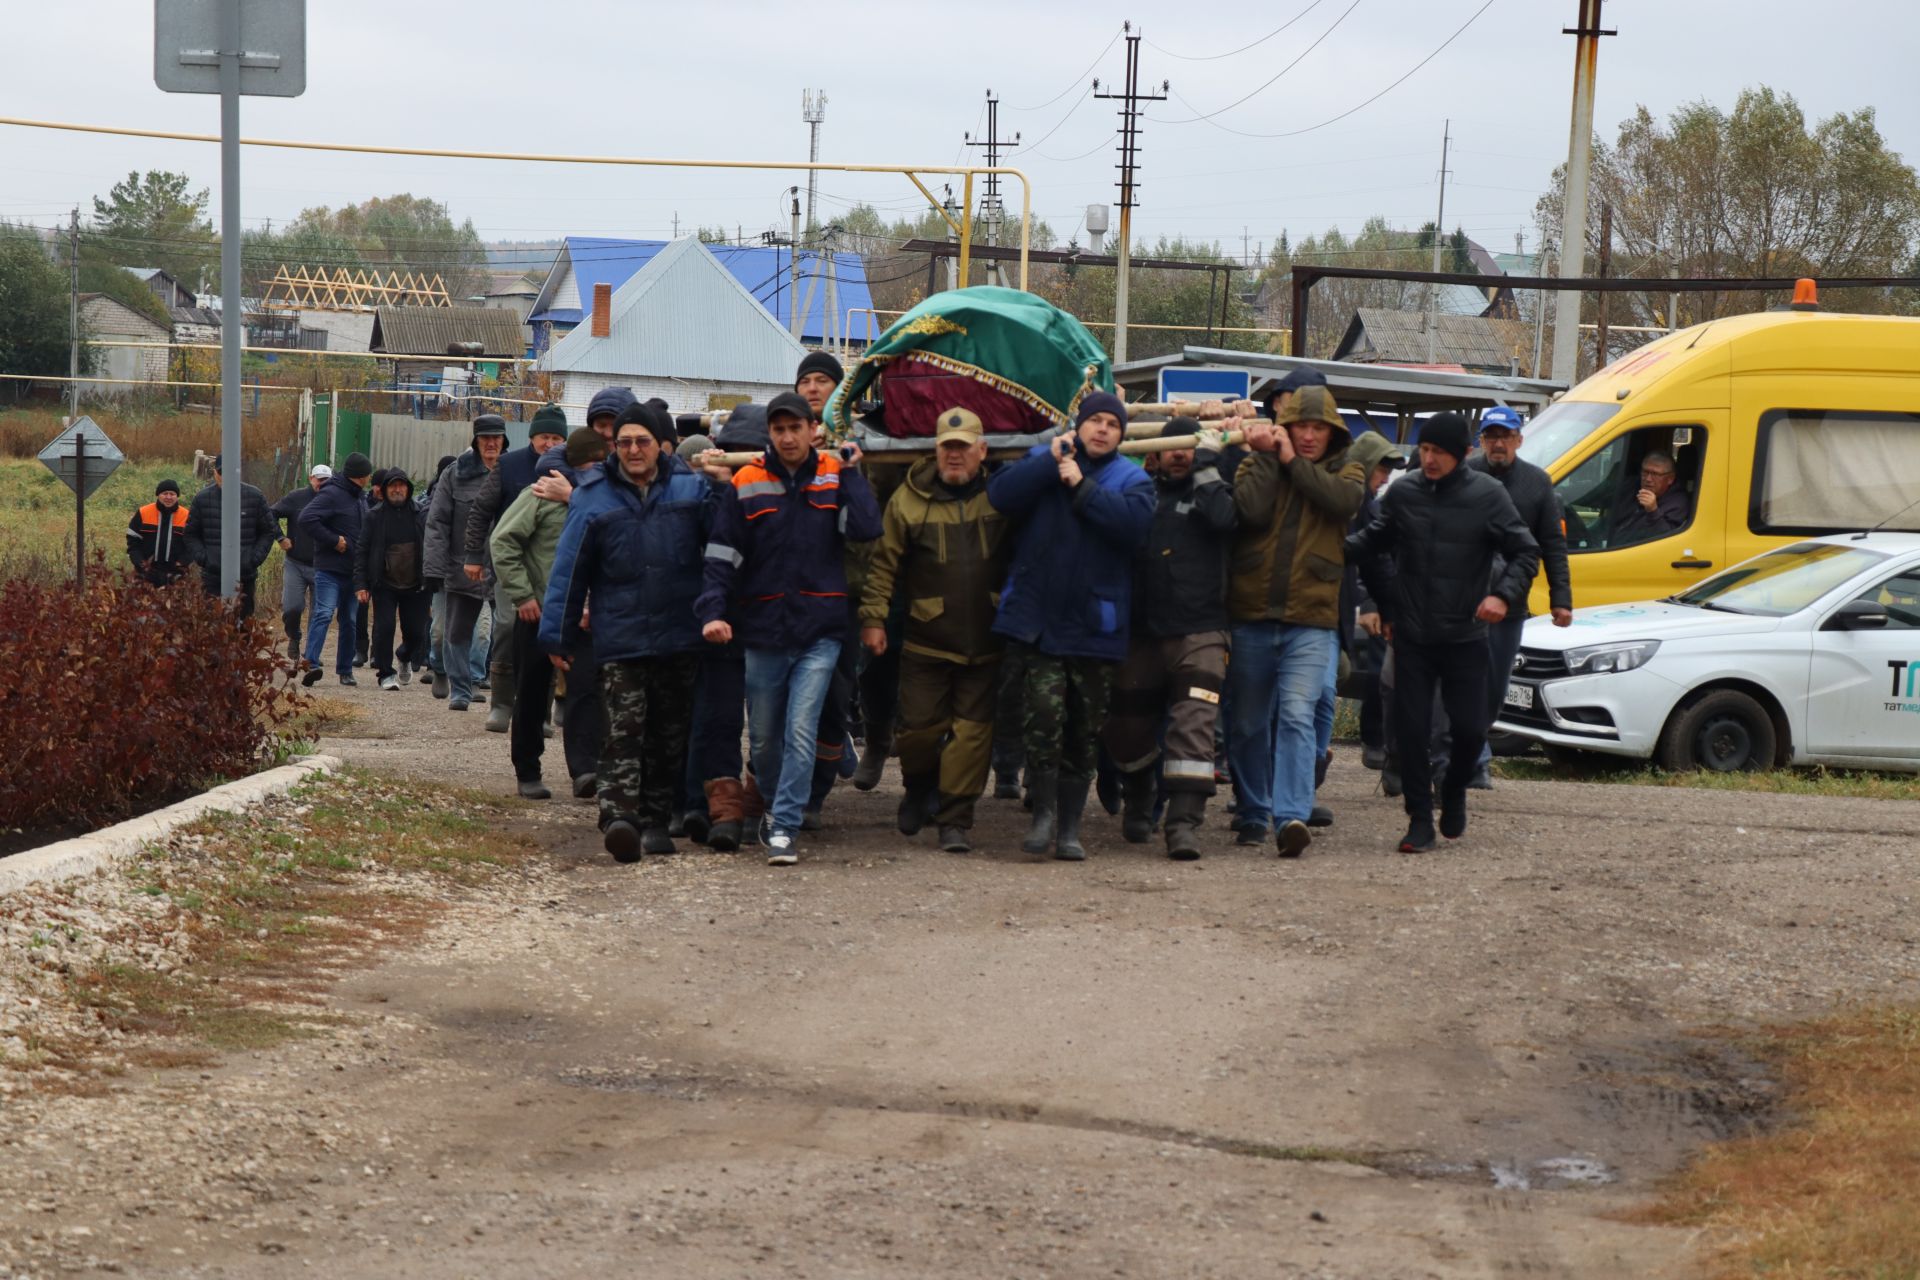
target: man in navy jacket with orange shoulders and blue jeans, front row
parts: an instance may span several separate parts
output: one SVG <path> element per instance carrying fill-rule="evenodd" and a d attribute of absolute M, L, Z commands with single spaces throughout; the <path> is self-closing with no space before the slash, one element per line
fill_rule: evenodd
<path fill-rule="evenodd" d="M 707 543 L 703 635 L 747 649 L 747 743 L 768 798 L 766 862 L 789 867 L 814 781 L 820 708 L 847 639 L 847 543 L 879 537 L 860 447 L 812 445 L 812 409 L 793 391 L 766 405 L 768 445 L 733 472 Z M 595 614 L 597 618 L 597 614 Z"/>

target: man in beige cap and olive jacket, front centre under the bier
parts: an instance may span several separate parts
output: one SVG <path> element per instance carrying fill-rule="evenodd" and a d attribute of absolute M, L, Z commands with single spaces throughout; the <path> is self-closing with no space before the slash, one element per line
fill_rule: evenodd
<path fill-rule="evenodd" d="M 887 503 L 860 597 L 860 643 L 877 656 L 895 585 L 906 595 L 899 825 L 916 835 L 937 821 L 950 854 L 972 850 L 973 802 L 987 787 L 1002 651 L 993 618 L 1010 555 L 1006 520 L 981 478 L 981 434 L 973 413 L 941 413 L 933 457 L 916 462 Z"/>

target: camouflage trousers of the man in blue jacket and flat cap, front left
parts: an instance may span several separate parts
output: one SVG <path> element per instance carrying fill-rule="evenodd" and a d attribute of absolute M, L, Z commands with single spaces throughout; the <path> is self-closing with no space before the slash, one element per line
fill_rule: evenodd
<path fill-rule="evenodd" d="M 601 827 L 616 818 L 664 827 L 687 768 L 699 656 L 628 658 L 601 666 L 607 739 L 599 760 Z"/>

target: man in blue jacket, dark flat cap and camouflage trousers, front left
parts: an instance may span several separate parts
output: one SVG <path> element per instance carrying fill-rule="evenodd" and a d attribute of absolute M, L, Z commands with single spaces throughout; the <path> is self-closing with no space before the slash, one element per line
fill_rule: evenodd
<path fill-rule="evenodd" d="M 693 720 L 693 601 L 714 510 L 712 486 L 662 449 L 655 422 L 643 405 L 628 407 L 614 455 L 580 478 L 540 606 L 540 649 L 564 672 L 591 599 L 607 716 L 599 821 L 618 862 L 674 852 L 666 823 Z"/>

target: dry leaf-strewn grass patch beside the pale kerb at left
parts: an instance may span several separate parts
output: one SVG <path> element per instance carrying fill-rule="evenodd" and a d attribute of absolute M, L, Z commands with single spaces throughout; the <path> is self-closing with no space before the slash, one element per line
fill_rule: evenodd
<path fill-rule="evenodd" d="M 190 958 L 123 958 L 67 979 L 88 1021 L 125 1040 L 29 1046 L 8 1065 L 56 1069 L 69 1092 L 125 1065 L 213 1061 L 340 1021 L 330 981 L 424 933 L 451 894 L 536 852 L 505 831 L 511 806 L 459 789 L 348 771 L 248 814 L 213 814 L 148 848 L 129 875 L 175 908 Z"/>

